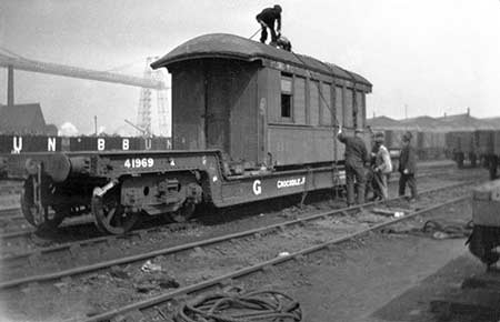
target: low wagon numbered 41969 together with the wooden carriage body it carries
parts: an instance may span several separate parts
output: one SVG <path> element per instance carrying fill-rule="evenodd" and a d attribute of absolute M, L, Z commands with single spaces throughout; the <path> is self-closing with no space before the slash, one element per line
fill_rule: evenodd
<path fill-rule="evenodd" d="M 371 83 L 310 57 L 206 34 L 151 64 L 172 74 L 171 151 L 32 153 L 22 209 L 37 227 L 91 211 L 108 233 L 140 215 L 217 208 L 343 184 L 347 132 L 366 127 Z"/>

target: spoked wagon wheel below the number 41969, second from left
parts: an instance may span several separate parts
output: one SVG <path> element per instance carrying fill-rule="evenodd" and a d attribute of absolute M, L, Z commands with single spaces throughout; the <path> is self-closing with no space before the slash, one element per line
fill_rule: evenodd
<path fill-rule="evenodd" d="M 132 229 L 139 219 L 138 212 L 127 212 L 120 204 L 120 197 L 110 192 L 103 197 L 93 195 L 92 213 L 101 232 L 123 234 Z"/>

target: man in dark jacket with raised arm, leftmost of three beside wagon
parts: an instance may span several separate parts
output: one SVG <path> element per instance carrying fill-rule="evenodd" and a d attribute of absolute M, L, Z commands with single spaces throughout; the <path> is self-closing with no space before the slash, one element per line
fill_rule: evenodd
<path fill-rule="evenodd" d="M 337 139 L 346 144 L 346 185 L 348 207 L 354 204 L 354 178 L 358 193 L 358 204 L 364 203 L 364 187 L 367 184 L 364 164 L 369 162 L 367 145 L 358 135 L 362 130 L 357 129 L 354 137 L 347 137 L 339 129 Z"/>

